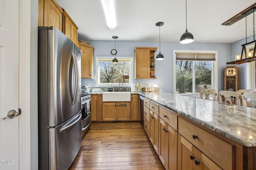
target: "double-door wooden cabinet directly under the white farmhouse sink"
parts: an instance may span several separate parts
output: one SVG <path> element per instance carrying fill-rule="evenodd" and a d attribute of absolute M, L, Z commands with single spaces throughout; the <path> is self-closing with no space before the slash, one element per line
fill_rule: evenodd
<path fill-rule="evenodd" d="M 102 103 L 102 120 L 130 120 L 131 119 L 131 102 L 103 102 Z"/>

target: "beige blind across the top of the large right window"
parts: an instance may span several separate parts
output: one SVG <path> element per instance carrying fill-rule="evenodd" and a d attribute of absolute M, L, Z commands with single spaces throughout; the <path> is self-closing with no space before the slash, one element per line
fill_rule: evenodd
<path fill-rule="evenodd" d="M 211 53 L 176 53 L 176 60 L 215 61 L 215 54 L 211 54 Z"/>

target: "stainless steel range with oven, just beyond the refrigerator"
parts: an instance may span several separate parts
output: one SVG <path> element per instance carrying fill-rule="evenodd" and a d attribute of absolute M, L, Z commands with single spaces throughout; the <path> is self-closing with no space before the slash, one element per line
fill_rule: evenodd
<path fill-rule="evenodd" d="M 82 137 L 88 131 L 91 125 L 91 95 L 87 86 L 81 87 L 81 105 L 82 105 Z"/>

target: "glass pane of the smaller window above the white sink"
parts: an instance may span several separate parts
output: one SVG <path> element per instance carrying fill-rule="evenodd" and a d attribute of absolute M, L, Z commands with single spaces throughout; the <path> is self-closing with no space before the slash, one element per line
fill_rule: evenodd
<path fill-rule="evenodd" d="M 100 83 L 130 83 L 130 63 L 130 61 L 118 61 L 117 64 L 112 64 L 112 61 L 99 61 Z"/>

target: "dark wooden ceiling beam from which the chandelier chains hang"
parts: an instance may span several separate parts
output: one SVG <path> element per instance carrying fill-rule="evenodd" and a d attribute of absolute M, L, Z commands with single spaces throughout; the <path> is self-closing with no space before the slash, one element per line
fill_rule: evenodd
<path fill-rule="evenodd" d="M 222 23 L 221 25 L 232 25 L 233 23 L 236 23 L 239 20 L 242 20 L 246 15 L 250 15 L 252 14 L 252 10 L 256 9 L 256 3 L 249 6 L 248 8 L 246 8 L 245 10 L 243 10 L 242 12 L 240 12 L 239 14 L 236 14 L 235 16 L 233 16 L 232 18 L 230 18 L 228 21 Z"/>

